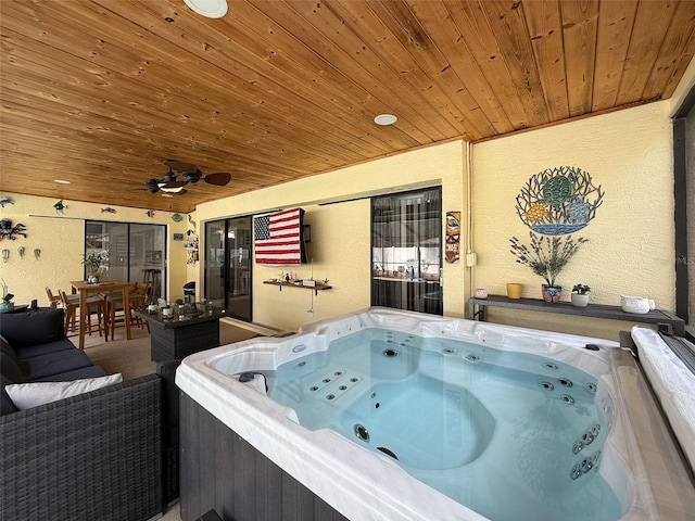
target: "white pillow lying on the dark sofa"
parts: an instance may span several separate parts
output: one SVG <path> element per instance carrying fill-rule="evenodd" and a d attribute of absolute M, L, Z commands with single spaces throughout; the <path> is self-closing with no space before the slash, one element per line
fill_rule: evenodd
<path fill-rule="evenodd" d="M 5 385 L 4 389 L 14 406 L 20 410 L 24 410 L 88 393 L 122 381 L 123 377 L 117 372 L 108 377 L 86 378 L 70 382 L 12 383 Z"/>

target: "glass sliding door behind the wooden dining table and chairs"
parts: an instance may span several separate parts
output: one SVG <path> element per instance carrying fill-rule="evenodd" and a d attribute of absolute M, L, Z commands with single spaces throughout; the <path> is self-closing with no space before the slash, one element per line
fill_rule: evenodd
<path fill-rule="evenodd" d="M 166 226 L 88 220 L 85 253 L 109 252 L 101 275 L 128 282 L 148 282 L 148 301 L 166 297 Z"/>

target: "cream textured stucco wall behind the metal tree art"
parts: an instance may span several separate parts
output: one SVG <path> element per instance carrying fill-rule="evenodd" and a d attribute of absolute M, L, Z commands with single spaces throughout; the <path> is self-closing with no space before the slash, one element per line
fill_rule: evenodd
<path fill-rule="evenodd" d="M 516 196 L 528 179 L 555 166 L 589 171 L 605 192 L 596 218 L 558 283 L 569 300 L 576 283 L 592 288 L 594 303 L 620 303 L 621 294 L 648 296 L 674 308 L 673 166 L 670 105 L 657 102 L 573 123 L 525 132 L 473 147 L 473 246 L 476 285 L 504 294 L 520 282 L 522 296 L 540 297 L 543 280 L 515 262 L 509 238 L 528 239 Z M 528 243 L 528 240 L 527 240 Z M 570 332 L 617 338 L 616 322 L 560 319 L 541 314 L 494 312 L 495 320 L 539 329 L 568 323 Z"/>

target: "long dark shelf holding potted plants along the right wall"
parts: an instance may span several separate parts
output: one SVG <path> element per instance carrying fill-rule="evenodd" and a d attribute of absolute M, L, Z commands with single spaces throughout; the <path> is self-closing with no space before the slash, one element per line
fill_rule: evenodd
<path fill-rule="evenodd" d="M 654 323 L 658 327 L 659 331 L 673 333 L 678 336 L 685 334 L 685 321 L 661 309 L 653 309 L 649 313 L 637 314 L 623 312 L 620 306 L 607 306 L 604 304 L 589 304 L 586 307 L 577 307 L 572 306 L 570 302 L 551 304 L 540 298 L 508 298 L 504 295 L 489 295 L 488 298 L 473 297 L 468 300 L 468 317 L 471 320 L 484 320 L 485 307 L 507 307 L 527 312 L 557 313 L 578 317 Z"/>

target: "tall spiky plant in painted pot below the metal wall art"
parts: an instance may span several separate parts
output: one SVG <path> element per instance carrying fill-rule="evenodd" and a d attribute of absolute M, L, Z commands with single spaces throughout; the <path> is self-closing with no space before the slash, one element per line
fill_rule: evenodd
<path fill-rule="evenodd" d="M 510 253 L 517 257 L 517 263 L 531 268 L 535 275 L 543 277 L 545 284 L 542 284 L 543 300 L 545 302 L 559 302 L 563 292 L 561 285 L 555 284 L 555 279 L 567 265 L 569 259 L 577 253 L 580 244 L 589 239 L 580 237 L 574 239 L 568 236 L 536 236 L 529 231 L 531 244 L 527 246 L 519 239 L 513 237 Z"/>

